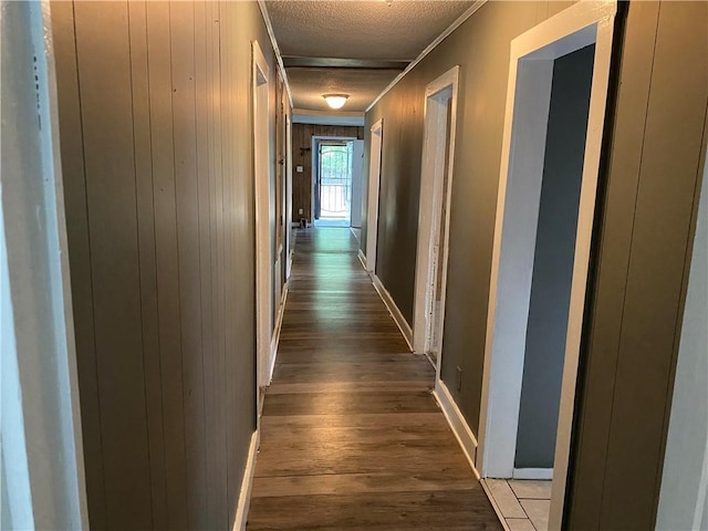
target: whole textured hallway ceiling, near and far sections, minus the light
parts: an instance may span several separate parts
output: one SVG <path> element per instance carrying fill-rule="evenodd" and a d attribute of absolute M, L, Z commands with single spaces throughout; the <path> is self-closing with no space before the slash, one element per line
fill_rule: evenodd
<path fill-rule="evenodd" d="M 454 0 L 268 0 L 283 56 L 413 61 L 472 4 Z M 398 71 L 288 69 L 293 103 L 327 110 L 322 94 L 343 92 L 342 111 L 365 111 Z"/>

